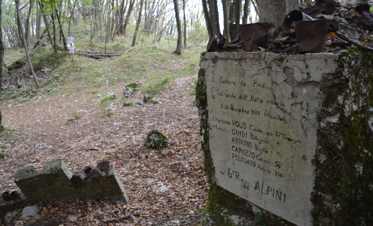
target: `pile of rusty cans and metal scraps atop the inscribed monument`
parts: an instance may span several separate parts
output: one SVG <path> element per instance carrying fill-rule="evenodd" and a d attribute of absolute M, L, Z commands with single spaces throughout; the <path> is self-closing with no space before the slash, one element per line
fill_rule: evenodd
<path fill-rule="evenodd" d="M 213 35 L 207 51 L 272 51 L 318 53 L 339 51 L 351 44 L 373 51 L 373 13 L 367 3 L 355 7 L 334 0 L 302 3 L 283 20 L 285 37 L 268 40 L 270 23 L 229 25 L 231 42 Z"/>

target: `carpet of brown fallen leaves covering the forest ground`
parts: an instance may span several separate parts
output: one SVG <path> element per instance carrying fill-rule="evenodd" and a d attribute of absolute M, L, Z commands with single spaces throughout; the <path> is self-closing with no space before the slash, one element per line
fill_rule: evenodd
<path fill-rule="evenodd" d="M 166 74 L 170 70 L 185 70 L 184 67 L 177 61 L 169 62 L 166 67 L 150 67 L 130 82 L 140 81 L 145 85 L 155 71 Z M 179 220 L 180 225 L 198 225 L 209 186 L 203 172 L 198 111 L 194 104 L 195 71 L 192 75 L 167 79 L 162 91 L 156 94 L 160 100 L 157 104 L 122 107 L 126 100 L 123 87 L 129 82 L 110 85 L 104 75 L 103 83 L 94 92 L 91 88 L 54 95 L 41 92 L 23 102 L 2 101 L 6 130 L 1 133 L 1 147 L 10 156 L 0 159 L 1 192 L 17 189 L 12 175 L 30 165 L 40 171 L 48 161 L 62 159 L 76 173 L 85 166 L 108 160 L 117 170 L 130 199 L 129 203 L 105 197 L 41 202 L 37 203 L 40 209 L 37 216 L 22 218 L 19 214 L 13 225 L 44 219 L 57 219 L 60 225 L 166 225 L 172 220 Z M 67 84 L 73 82 L 73 75 L 70 77 Z M 140 89 L 131 99 L 142 100 L 146 92 Z M 109 93 L 118 97 L 111 104 L 114 110 L 101 105 Z M 82 117 L 65 125 L 78 114 Z M 145 136 L 156 128 L 172 141 L 169 148 L 144 148 Z M 32 150 L 41 143 L 45 145 Z M 163 185 L 167 192 L 155 194 Z M 103 223 L 106 219 L 138 212 L 147 215 Z M 3 223 L 0 220 L 0 225 Z"/>

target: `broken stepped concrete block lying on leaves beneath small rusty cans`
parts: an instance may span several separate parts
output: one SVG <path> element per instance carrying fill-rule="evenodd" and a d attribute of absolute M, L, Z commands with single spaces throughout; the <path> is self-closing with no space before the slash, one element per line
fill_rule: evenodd
<path fill-rule="evenodd" d="M 110 166 L 107 177 L 93 183 L 85 182 L 82 186 L 73 186 L 71 177 L 72 173 L 65 162 L 57 159 L 46 163 L 43 171 L 38 173 L 33 173 L 29 167 L 19 170 L 14 181 L 25 197 L 35 202 L 98 197 L 129 201 L 113 166 Z"/>

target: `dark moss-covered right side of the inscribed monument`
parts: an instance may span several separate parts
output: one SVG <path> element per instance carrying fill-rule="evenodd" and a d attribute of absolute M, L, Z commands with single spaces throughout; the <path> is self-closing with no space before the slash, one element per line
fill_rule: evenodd
<path fill-rule="evenodd" d="M 319 131 L 315 225 L 373 225 L 372 60 L 372 53 L 356 47 L 340 53 L 338 88 L 324 90 L 320 120 L 333 113 L 339 114 L 339 122 Z"/>

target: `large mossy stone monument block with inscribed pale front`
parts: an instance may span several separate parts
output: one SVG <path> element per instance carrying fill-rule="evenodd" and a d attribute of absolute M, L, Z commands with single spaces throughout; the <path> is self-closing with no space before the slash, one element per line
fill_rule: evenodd
<path fill-rule="evenodd" d="M 373 222 L 373 54 L 203 53 L 203 225 Z"/>

